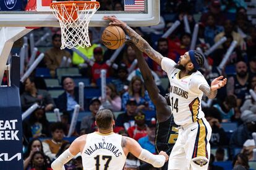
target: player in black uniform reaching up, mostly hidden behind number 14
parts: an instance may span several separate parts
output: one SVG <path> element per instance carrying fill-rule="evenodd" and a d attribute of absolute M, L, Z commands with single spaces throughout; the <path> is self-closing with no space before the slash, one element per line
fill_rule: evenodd
<path fill-rule="evenodd" d="M 136 58 L 138 60 L 137 65 L 140 68 L 140 72 L 142 73 L 148 95 L 156 107 L 156 153 L 159 153 L 160 150 L 163 150 L 168 155 L 170 155 L 171 150 L 173 149 L 173 146 L 177 140 L 178 126 L 174 123 L 171 107 L 168 105 L 169 97 L 168 99 L 165 99 L 161 94 L 159 94 L 159 89 L 155 84 L 150 68 L 143 58 L 142 52 L 140 52 L 132 42 L 127 41 L 126 44 L 129 44 L 131 47 L 133 47 L 136 52 Z M 161 169 L 167 170 L 168 163 L 166 162 Z"/>

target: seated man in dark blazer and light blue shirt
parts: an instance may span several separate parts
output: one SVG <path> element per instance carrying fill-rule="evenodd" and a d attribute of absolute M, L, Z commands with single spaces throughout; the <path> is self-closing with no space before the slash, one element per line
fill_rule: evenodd
<path fill-rule="evenodd" d="M 63 79 L 62 87 L 65 91 L 56 100 L 56 107 L 60 111 L 72 112 L 75 105 L 79 103 L 79 92 L 75 89 L 74 80 L 69 77 Z M 80 110 L 84 110 L 84 108 L 80 108 Z"/>

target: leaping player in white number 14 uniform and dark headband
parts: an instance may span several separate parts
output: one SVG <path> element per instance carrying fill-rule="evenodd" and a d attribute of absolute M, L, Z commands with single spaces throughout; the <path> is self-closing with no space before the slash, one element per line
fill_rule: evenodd
<path fill-rule="evenodd" d="M 121 26 L 135 46 L 161 65 L 168 75 L 171 83 L 169 97 L 174 122 L 181 126 L 169 158 L 168 169 L 207 169 L 210 158 L 211 127 L 201 110 L 201 100 L 203 94 L 210 99 L 215 98 L 217 90 L 226 84 L 227 79 L 220 76 L 209 86 L 203 75 L 197 71 L 204 62 L 199 52 L 186 52 L 176 64 L 156 52 L 125 22 L 116 17 L 103 17 L 103 19 L 111 20 L 110 25 Z"/>

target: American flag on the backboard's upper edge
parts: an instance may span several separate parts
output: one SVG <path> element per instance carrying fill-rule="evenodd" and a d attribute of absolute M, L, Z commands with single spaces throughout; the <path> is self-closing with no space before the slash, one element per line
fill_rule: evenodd
<path fill-rule="evenodd" d="M 144 11 L 145 0 L 124 0 L 125 11 Z"/>

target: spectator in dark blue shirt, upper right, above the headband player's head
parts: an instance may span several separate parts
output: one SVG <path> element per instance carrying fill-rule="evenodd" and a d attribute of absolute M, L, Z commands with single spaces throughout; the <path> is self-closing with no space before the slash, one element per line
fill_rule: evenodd
<path fill-rule="evenodd" d="M 210 44 L 210 46 L 213 46 L 214 38 L 217 34 L 224 31 L 223 26 L 216 25 L 215 24 L 215 17 L 213 14 L 209 14 L 207 16 L 207 22 L 205 26 L 205 41 Z"/>

